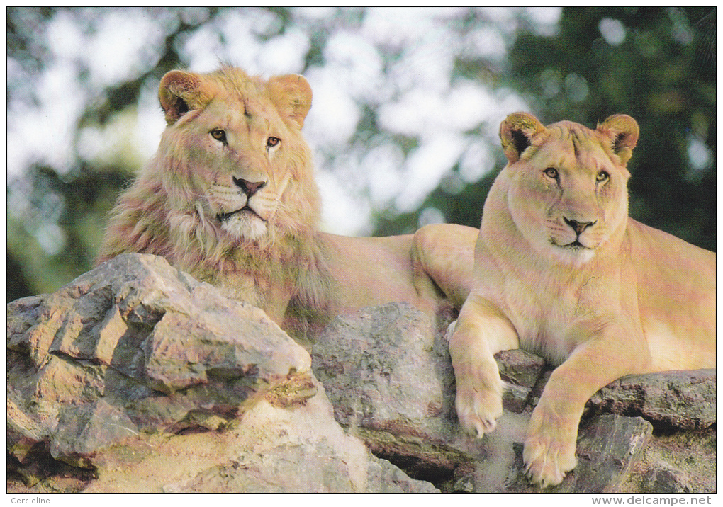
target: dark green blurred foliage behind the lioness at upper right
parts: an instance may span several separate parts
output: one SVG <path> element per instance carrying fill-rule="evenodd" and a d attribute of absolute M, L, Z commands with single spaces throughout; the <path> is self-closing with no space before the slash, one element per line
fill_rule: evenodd
<path fill-rule="evenodd" d="M 563 9 L 555 37 L 518 35 L 510 68 L 496 79 L 498 86 L 522 92 L 543 123 L 566 119 L 594 127 L 615 113 L 636 118 L 641 137 L 630 162 L 630 215 L 711 251 L 716 250 L 715 19 L 709 8 Z M 604 20 L 623 26 L 625 39 L 618 45 L 604 40 L 599 29 Z M 498 169 L 504 163 L 498 150 Z M 441 209 L 448 222 L 476 226 L 495 175 L 454 191 L 440 185 L 422 209 Z M 377 231 L 393 233 L 400 222 L 416 224 L 418 215 L 383 220 Z"/>

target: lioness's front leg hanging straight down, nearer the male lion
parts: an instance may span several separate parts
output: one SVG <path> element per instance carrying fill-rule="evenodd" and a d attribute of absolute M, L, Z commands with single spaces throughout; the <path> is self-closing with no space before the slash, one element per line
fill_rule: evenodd
<path fill-rule="evenodd" d="M 518 344 L 512 324 L 495 306 L 479 295 L 467 298 L 450 337 L 455 407 L 464 430 L 482 436 L 495 429 L 502 415 L 502 380 L 494 355 Z"/>

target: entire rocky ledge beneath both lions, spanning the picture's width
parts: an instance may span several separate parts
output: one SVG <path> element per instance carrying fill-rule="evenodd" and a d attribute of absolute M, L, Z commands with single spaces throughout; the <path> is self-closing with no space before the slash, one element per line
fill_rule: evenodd
<path fill-rule="evenodd" d="M 10 492 L 532 492 L 524 429 L 544 361 L 497 355 L 505 413 L 454 414 L 443 329 L 403 304 L 304 350 L 265 313 L 126 254 L 7 306 Z M 557 492 L 715 490 L 716 373 L 622 378 L 590 400 Z"/>

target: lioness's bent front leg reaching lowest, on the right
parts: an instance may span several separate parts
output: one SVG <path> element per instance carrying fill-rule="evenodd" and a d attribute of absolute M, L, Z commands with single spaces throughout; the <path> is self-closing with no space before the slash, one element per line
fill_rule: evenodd
<path fill-rule="evenodd" d="M 531 482 L 543 487 L 562 482 L 577 464 L 578 425 L 587 400 L 616 378 L 641 371 L 647 349 L 634 335 L 623 336 L 629 339 L 625 344 L 592 337 L 552 372 L 525 438 L 523 459 Z"/>

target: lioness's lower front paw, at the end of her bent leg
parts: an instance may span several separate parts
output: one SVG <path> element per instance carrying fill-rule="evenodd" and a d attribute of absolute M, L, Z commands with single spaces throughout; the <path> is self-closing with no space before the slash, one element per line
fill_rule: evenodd
<path fill-rule="evenodd" d="M 578 464 L 575 457 L 577 428 L 573 425 L 540 424 L 533 414 L 525 439 L 525 473 L 533 484 L 555 486 Z"/>

